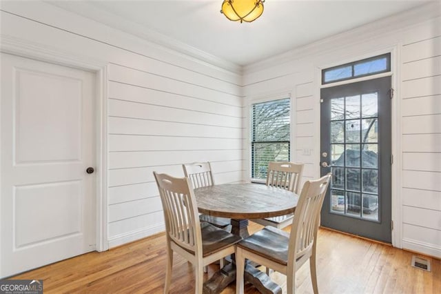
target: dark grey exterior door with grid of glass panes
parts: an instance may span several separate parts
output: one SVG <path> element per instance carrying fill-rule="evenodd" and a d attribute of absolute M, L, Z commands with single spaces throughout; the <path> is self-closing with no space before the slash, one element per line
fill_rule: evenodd
<path fill-rule="evenodd" d="M 321 90 L 321 224 L 391 242 L 391 78 Z"/>

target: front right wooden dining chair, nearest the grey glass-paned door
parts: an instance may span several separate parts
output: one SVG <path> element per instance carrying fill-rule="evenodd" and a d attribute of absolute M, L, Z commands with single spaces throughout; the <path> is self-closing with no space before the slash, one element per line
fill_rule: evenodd
<path fill-rule="evenodd" d="M 309 259 L 312 288 L 318 293 L 316 250 L 320 210 L 331 174 L 307 181 L 302 188 L 296 213 L 288 234 L 278 228 L 266 226 L 247 237 L 236 248 L 236 293 L 243 293 L 245 259 L 274 268 L 287 276 L 287 293 L 296 289 L 296 271 Z"/>

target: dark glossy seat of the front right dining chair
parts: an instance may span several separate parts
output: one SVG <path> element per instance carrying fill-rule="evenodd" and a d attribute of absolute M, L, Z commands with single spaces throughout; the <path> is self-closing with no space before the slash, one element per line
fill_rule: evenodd
<path fill-rule="evenodd" d="M 289 234 L 272 226 L 265 226 L 237 244 L 238 247 L 283 265 L 288 263 L 288 245 Z"/>

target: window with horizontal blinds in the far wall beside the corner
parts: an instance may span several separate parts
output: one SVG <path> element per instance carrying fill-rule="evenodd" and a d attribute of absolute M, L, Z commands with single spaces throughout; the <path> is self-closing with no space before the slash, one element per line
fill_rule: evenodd
<path fill-rule="evenodd" d="M 290 99 L 252 105 L 252 179 L 266 179 L 269 161 L 289 161 Z"/>

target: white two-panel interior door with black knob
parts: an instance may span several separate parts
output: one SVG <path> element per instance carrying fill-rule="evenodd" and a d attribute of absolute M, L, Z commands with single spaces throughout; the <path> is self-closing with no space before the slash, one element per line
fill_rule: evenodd
<path fill-rule="evenodd" d="M 95 250 L 94 82 L 1 54 L 0 277 Z"/>

